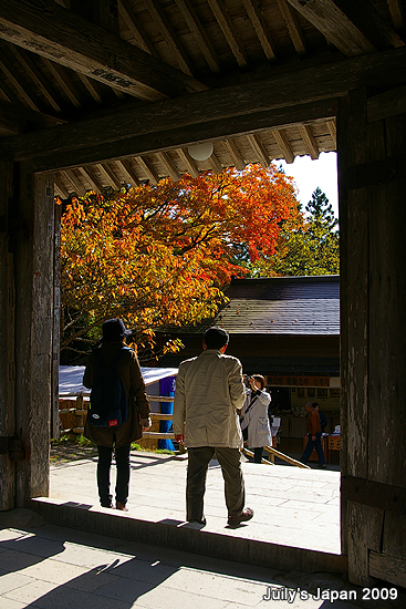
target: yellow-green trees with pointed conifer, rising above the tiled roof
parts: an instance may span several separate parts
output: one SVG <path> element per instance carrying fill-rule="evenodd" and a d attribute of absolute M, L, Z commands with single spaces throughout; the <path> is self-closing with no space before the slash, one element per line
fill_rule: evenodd
<path fill-rule="evenodd" d="M 301 226 L 282 226 L 277 255 L 266 265 L 260 264 L 257 273 L 340 273 L 339 220 L 327 197 L 319 187 L 306 204 L 305 211 Z"/>

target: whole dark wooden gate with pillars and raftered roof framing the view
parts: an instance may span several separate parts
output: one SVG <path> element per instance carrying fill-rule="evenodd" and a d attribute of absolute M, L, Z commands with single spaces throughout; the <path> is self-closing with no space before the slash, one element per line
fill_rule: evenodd
<path fill-rule="evenodd" d="M 406 586 L 405 40 L 404 0 L 1 0 L 0 509 L 49 492 L 54 194 L 336 149 L 342 547 Z"/>

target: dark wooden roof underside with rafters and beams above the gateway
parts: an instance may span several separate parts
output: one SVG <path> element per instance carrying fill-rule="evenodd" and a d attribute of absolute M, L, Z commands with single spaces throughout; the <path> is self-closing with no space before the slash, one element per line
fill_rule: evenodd
<path fill-rule="evenodd" d="M 0 158 L 55 172 L 62 197 L 317 158 L 339 96 L 404 85 L 403 0 L 113 4 L 0 3 Z"/>

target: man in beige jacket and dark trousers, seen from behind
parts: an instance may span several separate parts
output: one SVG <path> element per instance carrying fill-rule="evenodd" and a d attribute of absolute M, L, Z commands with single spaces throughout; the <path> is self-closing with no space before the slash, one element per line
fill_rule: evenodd
<path fill-rule="evenodd" d="M 241 363 L 225 355 L 229 336 L 222 328 L 206 331 L 204 351 L 181 362 L 174 402 L 175 440 L 188 448 L 186 519 L 206 524 L 204 495 L 210 460 L 216 457 L 225 479 L 229 526 L 250 520 L 244 509 L 240 450 L 242 436 L 237 410 L 244 401 Z"/>

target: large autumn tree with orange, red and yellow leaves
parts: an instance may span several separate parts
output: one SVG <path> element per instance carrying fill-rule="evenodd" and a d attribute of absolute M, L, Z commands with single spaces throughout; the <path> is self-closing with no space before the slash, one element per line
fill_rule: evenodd
<path fill-rule="evenodd" d="M 236 244 L 259 261 L 274 255 L 281 223 L 296 220 L 294 187 L 273 164 L 74 198 L 62 217 L 62 349 L 81 351 L 111 317 L 146 344 L 158 327 L 214 314 L 246 272 Z"/>

